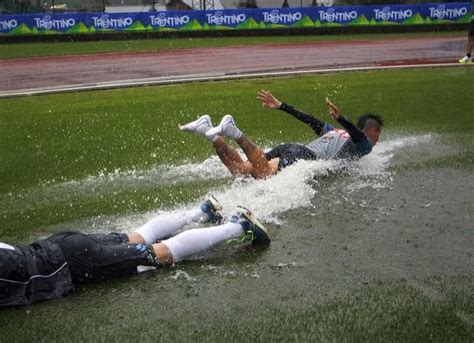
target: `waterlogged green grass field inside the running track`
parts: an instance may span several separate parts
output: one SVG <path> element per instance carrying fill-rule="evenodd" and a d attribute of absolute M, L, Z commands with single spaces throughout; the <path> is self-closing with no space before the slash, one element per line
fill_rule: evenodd
<path fill-rule="evenodd" d="M 226 214 L 249 207 L 272 235 L 266 250 L 223 244 L 171 269 L 2 310 L 0 340 L 473 341 L 473 77 L 430 69 L 0 101 L 0 241 L 127 231 L 207 194 Z M 311 139 L 261 109 L 260 88 L 319 117 L 326 94 L 353 119 L 378 111 L 382 141 L 351 164 L 233 178 L 177 124 L 230 112 L 267 148 Z"/>

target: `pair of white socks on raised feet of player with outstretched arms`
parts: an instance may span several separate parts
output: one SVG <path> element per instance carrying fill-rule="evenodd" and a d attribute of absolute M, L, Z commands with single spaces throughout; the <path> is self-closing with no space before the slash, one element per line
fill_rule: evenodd
<path fill-rule="evenodd" d="M 239 130 L 234 118 L 230 114 L 225 115 L 220 124 L 216 127 L 212 126 L 211 117 L 205 114 L 195 121 L 182 125 L 179 128 L 181 131 L 194 132 L 206 136 L 210 141 L 214 141 L 217 136 L 226 136 L 234 140 L 242 136 L 242 131 Z"/>

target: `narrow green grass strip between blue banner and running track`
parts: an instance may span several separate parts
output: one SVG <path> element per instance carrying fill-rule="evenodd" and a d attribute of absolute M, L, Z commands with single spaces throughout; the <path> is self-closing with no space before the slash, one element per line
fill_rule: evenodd
<path fill-rule="evenodd" d="M 322 36 L 271 36 L 271 37 L 221 37 L 221 38 L 163 38 L 133 39 L 96 42 L 44 42 L 0 44 L 0 59 L 80 55 L 96 53 L 130 53 L 163 49 L 185 49 L 204 47 L 225 47 L 236 45 L 292 44 L 324 42 L 334 40 L 373 40 L 393 38 L 417 38 L 439 36 L 465 36 L 465 32 L 404 33 L 404 34 L 361 34 Z"/>

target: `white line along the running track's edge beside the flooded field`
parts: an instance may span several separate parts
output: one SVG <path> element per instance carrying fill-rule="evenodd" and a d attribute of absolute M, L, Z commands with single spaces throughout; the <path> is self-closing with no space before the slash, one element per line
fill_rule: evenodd
<path fill-rule="evenodd" d="M 171 84 L 179 84 L 179 83 L 187 83 L 187 82 L 224 81 L 224 80 L 235 80 L 235 79 L 252 79 L 252 78 L 278 77 L 278 76 L 303 75 L 303 74 L 340 73 L 340 72 L 347 72 L 347 71 L 455 67 L 455 66 L 466 66 L 466 65 L 459 64 L 459 63 L 429 63 L 429 64 L 366 66 L 366 67 L 327 68 L 327 69 L 304 69 L 304 70 L 287 70 L 287 71 L 236 73 L 236 74 L 210 73 L 210 74 L 173 75 L 173 76 L 162 76 L 162 77 L 155 77 L 155 78 L 107 81 L 107 82 L 66 85 L 66 86 L 57 86 L 57 87 L 42 87 L 42 88 L 30 88 L 30 89 L 4 91 L 4 92 L 0 92 L 0 99 L 1 98 L 16 98 L 16 97 L 32 96 L 32 95 L 42 95 L 42 94 L 56 94 L 56 93 L 81 92 L 81 91 L 91 91 L 91 90 L 115 89 L 115 88 L 125 88 L 125 87 L 171 85 Z"/>

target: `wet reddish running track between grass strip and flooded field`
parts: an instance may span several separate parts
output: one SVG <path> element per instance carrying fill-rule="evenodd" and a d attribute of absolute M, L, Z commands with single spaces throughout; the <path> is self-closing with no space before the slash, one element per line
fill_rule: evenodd
<path fill-rule="evenodd" d="M 465 42 L 453 35 L 0 60 L 0 97 L 263 72 L 451 64 Z"/>

